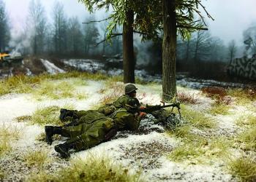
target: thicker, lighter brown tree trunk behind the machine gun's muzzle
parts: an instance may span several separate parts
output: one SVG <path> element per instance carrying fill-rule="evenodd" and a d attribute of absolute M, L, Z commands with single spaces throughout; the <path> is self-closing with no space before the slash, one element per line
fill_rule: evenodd
<path fill-rule="evenodd" d="M 176 95 L 176 1 L 163 0 L 164 37 L 162 41 L 162 99 Z"/>

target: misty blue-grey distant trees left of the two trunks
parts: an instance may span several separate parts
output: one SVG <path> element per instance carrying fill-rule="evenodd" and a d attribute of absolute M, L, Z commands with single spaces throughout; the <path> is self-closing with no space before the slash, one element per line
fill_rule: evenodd
<path fill-rule="evenodd" d="M 64 5 L 55 1 L 51 21 L 40 0 L 31 0 L 26 24 L 10 44 L 10 22 L 5 4 L 0 0 L 0 49 L 18 50 L 24 55 L 56 55 L 60 57 L 86 57 L 91 55 L 118 54 L 121 39 L 113 39 L 112 44 L 99 44 L 104 39 L 104 25 L 83 24 L 78 17 L 67 17 Z M 84 21 L 93 21 L 94 16 Z M 102 23 L 104 24 L 104 23 Z M 97 46 L 97 47 L 96 47 Z"/>

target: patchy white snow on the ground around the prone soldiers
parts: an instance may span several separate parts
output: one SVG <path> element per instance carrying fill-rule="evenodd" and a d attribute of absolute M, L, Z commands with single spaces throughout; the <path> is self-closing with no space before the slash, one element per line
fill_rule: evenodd
<path fill-rule="evenodd" d="M 61 167 L 69 165 L 69 160 L 59 158 L 59 154 L 53 147 L 63 142 L 54 141 L 52 146 L 48 146 L 43 141 L 36 141 L 37 136 L 44 132 L 44 128 L 37 124 L 27 124 L 26 122 L 16 122 L 18 116 L 31 115 L 38 107 L 59 106 L 72 104 L 76 109 L 89 109 L 104 96 L 99 90 L 104 87 L 104 82 L 88 81 L 80 91 L 86 92 L 89 96 L 85 100 L 74 98 L 60 100 L 34 100 L 29 94 L 9 94 L 0 97 L 0 124 L 15 125 L 20 128 L 22 135 L 18 141 L 12 143 L 13 150 L 0 158 L 1 170 L 5 175 L 3 181 L 24 181 L 26 175 L 31 172 L 38 173 L 36 169 L 31 169 L 24 164 L 23 155 L 31 150 L 47 149 L 48 157 L 51 159 L 47 171 L 56 172 Z M 159 85 L 138 85 L 138 98 L 143 103 L 159 104 Z M 178 88 L 181 90 L 181 88 Z M 189 90 L 198 95 L 200 103 L 196 104 L 197 109 L 204 109 L 211 106 L 212 100 L 200 95 L 198 90 Z M 244 111 L 243 107 L 233 108 L 233 113 L 227 116 L 217 115 L 219 135 L 230 135 L 238 130 L 235 120 L 238 114 Z M 182 112 L 182 111 L 181 111 Z M 147 122 L 144 120 L 143 122 Z M 115 138 L 106 143 L 101 143 L 92 149 L 72 153 L 71 158 L 86 157 L 89 154 L 108 154 L 116 162 L 121 163 L 129 170 L 142 171 L 142 176 L 146 181 L 237 181 L 227 170 L 223 169 L 222 161 L 210 161 L 211 165 L 193 164 L 192 162 L 173 162 L 167 157 L 176 146 L 181 144 L 177 138 L 172 138 L 159 130 L 152 130 L 149 133 L 128 134 L 126 137 Z M 35 171 L 34 171 L 35 170 Z"/>

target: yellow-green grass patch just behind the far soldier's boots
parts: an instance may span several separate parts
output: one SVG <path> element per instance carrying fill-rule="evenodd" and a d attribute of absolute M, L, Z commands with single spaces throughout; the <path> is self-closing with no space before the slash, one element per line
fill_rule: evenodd
<path fill-rule="evenodd" d="M 69 110 L 73 109 L 73 106 L 63 106 L 63 108 L 67 108 Z M 31 116 L 30 123 L 31 124 L 53 124 L 53 125 L 61 125 L 63 124 L 59 120 L 60 114 L 60 107 L 59 106 L 48 106 L 48 107 L 40 107 L 37 108 L 36 111 Z"/>

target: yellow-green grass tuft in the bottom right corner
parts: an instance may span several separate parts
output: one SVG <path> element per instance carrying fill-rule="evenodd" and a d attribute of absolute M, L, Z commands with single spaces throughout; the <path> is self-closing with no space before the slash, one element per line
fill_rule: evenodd
<path fill-rule="evenodd" d="M 256 181 L 256 162 L 251 157 L 230 159 L 227 167 L 230 173 L 240 178 L 241 181 Z"/>

